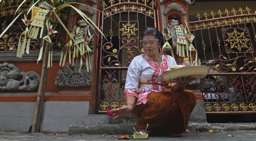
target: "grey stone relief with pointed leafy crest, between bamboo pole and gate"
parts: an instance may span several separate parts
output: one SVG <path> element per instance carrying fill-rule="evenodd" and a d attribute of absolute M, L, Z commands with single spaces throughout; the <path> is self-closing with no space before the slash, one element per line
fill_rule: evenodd
<path fill-rule="evenodd" d="M 74 65 L 67 63 L 66 68 L 57 70 L 57 77 L 55 78 L 55 86 L 57 87 L 80 87 L 91 86 L 92 72 L 87 72 L 86 62 L 82 63 L 82 69 L 79 73 L 80 60 L 76 59 Z"/>

